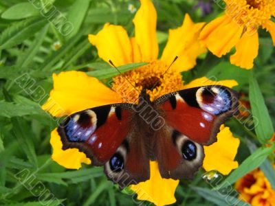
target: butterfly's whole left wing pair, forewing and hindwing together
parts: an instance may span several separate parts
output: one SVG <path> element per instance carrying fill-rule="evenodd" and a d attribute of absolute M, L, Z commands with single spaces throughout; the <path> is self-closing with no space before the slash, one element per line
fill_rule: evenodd
<path fill-rule="evenodd" d="M 89 108 L 67 117 L 58 127 L 63 150 L 78 148 L 92 165 L 104 165 L 107 177 L 121 188 L 149 178 L 143 138 L 137 133 L 133 104 Z"/>

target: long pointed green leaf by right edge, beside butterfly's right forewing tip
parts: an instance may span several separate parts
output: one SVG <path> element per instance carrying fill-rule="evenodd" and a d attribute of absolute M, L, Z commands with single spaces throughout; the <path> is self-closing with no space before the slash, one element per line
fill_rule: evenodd
<path fill-rule="evenodd" d="M 263 95 L 259 88 L 259 84 L 253 76 L 250 76 L 249 91 L 255 132 L 259 141 L 264 144 L 265 141 L 272 137 L 274 128 L 265 105 L 265 100 L 263 99 Z"/>

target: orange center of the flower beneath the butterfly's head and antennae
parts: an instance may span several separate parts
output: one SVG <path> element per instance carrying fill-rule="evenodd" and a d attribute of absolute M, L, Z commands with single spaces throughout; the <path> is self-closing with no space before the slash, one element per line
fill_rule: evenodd
<path fill-rule="evenodd" d="M 160 96 L 182 89 L 181 74 L 168 69 L 164 62 L 155 60 L 132 71 L 113 78 L 112 89 L 123 102 L 136 102 L 142 89 L 153 101 Z"/>

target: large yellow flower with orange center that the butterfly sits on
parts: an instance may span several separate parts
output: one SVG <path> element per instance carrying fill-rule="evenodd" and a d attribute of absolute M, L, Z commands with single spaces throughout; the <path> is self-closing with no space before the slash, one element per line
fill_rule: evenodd
<path fill-rule="evenodd" d="M 165 93 L 190 87 L 210 84 L 236 86 L 237 83 L 234 80 L 213 82 L 207 78 L 199 78 L 189 84 L 182 83 L 180 72 L 192 69 L 196 64 L 197 56 L 206 50 L 197 40 L 203 23 L 193 23 L 190 16 L 186 14 L 181 27 L 169 31 L 164 52 L 157 60 L 157 14 L 151 1 L 141 1 L 141 7 L 135 14 L 133 22 L 135 37 L 129 38 L 126 30 L 119 25 L 106 23 L 98 34 L 89 35 L 89 41 L 98 49 L 100 58 L 105 61 L 111 59 L 117 66 L 131 62 L 148 62 L 148 65 L 126 72 L 123 76 L 116 76 L 113 78 L 111 89 L 105 87 L 96 78 L 87 76 L 84 72 L 67 71 L 58 75 L 54 74 L 54 89 L 50 93 L 49 100 L 43 105 L 43 109 L 52 115 L 61 117 L 94 106 L 133 102 L 137 99 L 142 87 L 147 89 L 146 92 L 150 95 L 151 100 L 155 100 Z M 179 58 L 165 73 L 175 56 L 179 56 Z M 151 90 L 157 80 L 159 80 L 158 84 Z M 137 91 L 133 89 L 132 85 Z M 238 166 L 234 157 L 239 147 L 239 140 L 234 138 L 229 128 L 226 127 L 221 128 L 217 139 L 217 143 L 205 147 L 206 159 L 203 162 L 203 167 L 206 170 L 219 170 L 223 174 L 228 174 Z M 228 141 L 230 141 L 229 145 Z M 52 132 L 51 144 L 53 147 L 52 159 L 65 168 L 78 169 L 81 163 L 91 163 L 85 154 L 77 149 L 62 150 L 61 139 L 56 130 Z M 223 152 L 223 148 L 227 148 L 230 152 Z M 221 150 L 221 157 L 217 157 L 218 155 L 213 150 Z M 212 154 L 215 154 L 214 157 Z M 71 156 L 67 155 L 72 156 L 72 161 Z M 217 161 L 211 161 L 212 158 L 216 158 Z M 137 193 L 138 199 L 151 201 L 155 205 L 175 203 L 174 193 L 179 181 L 162 179 L 157 163 L 151 161 L 150 165 L 150 179 L 144 183 L 132 185 L 131 189 Z"/>

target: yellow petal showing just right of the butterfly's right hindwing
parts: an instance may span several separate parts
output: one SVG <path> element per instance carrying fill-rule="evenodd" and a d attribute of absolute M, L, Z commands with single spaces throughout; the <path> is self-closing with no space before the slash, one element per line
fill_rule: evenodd
<path fill-rule="evenodd" d="M 231 170 L 238 167 L 234 161 L 239 148 L 240 140 L 235 138 L 229 127 L 221 126 L 217 135 L 217 142 L 210 146 L 203 146 L 206 157 L 203 160 L 203 168 L 206 171 L 217 170 L 221 174 L 229 174 Z"/>

